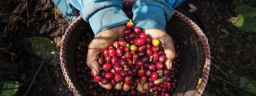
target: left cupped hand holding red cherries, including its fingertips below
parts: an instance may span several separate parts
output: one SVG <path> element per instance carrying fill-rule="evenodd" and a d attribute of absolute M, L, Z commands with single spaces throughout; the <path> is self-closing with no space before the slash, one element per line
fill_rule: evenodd
<path fill-rule="evenodd" d="M 114 28 L 104 30 L 100 33 L 98 33 L 97 36 L 91 41 L 91 43 L 88 46 L 88 53 L 87 53 L 87 59 L 86 63 L 88 67 L 92 70 L 93 74 L 95 76 L 99 75 L 100 72 L 100 66 L 98 63 L 99 55 L 107 49 L 110 45 L 113 44 L 114 41 L 118 39 L 118 37 L 123 36 L 123 30 L 126 29 L 125 24 L 116 26 Z M 112 89 L 112 85 L 110 83 L 108 84 L 102 84 L 101 82 L 98 82 L 98 84 L 105 89 Z M 117 90 L 126 90 L 128 91 L 130 89 L 130 86 L 128 84 L 116 84 L 114 86 Z"/>

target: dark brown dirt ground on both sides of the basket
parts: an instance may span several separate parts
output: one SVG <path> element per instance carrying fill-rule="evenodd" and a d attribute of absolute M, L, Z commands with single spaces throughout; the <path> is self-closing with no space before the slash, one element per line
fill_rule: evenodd
<path fill-rule="evenodd" d="M 230 22 L 237 16 L 233 0 L 191 0 L 201 13 L 211 48 L 211 72 L 205 96 L 256 96 L 232 79 L 250 75 L 256 80 L 256 34 Z M 23 96 L 42 61 L 25 37 L 43 36 L 56 45 L 70 24 L 51 0 L 0 1 L 0 81 L 23 83 Z M 229 73 L 232 69 L 234 72 Z M 61 72 L 60 60 L 47 60 L 29 96 L 73 96 Z"/>

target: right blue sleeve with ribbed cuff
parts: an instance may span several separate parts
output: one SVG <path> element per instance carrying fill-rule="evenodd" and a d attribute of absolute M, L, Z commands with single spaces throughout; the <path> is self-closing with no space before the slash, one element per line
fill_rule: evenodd
<path fill-rule="evenodd" d="M 174 14 L 173 9 L 185 0 L 135 0 L 133 20 L 135 26 L 143 29 L 161 29 L 165 31 L 166 21 Z"/>

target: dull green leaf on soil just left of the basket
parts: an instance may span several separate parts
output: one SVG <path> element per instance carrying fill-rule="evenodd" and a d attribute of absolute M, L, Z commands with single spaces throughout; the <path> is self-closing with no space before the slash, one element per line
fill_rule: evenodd
<path fill-rule="evenodd" d="M 34 53 L 41 59 L 44 59 L 46 55 L 49 54 L 51 51 L 58 51 L 55 47 L 56 45 L 49 38 L 34 36 L 26 39 L 31 42 Z M 57 57 L 58 55 L 56 54 L 50 56 L 50 58 Z"/>

